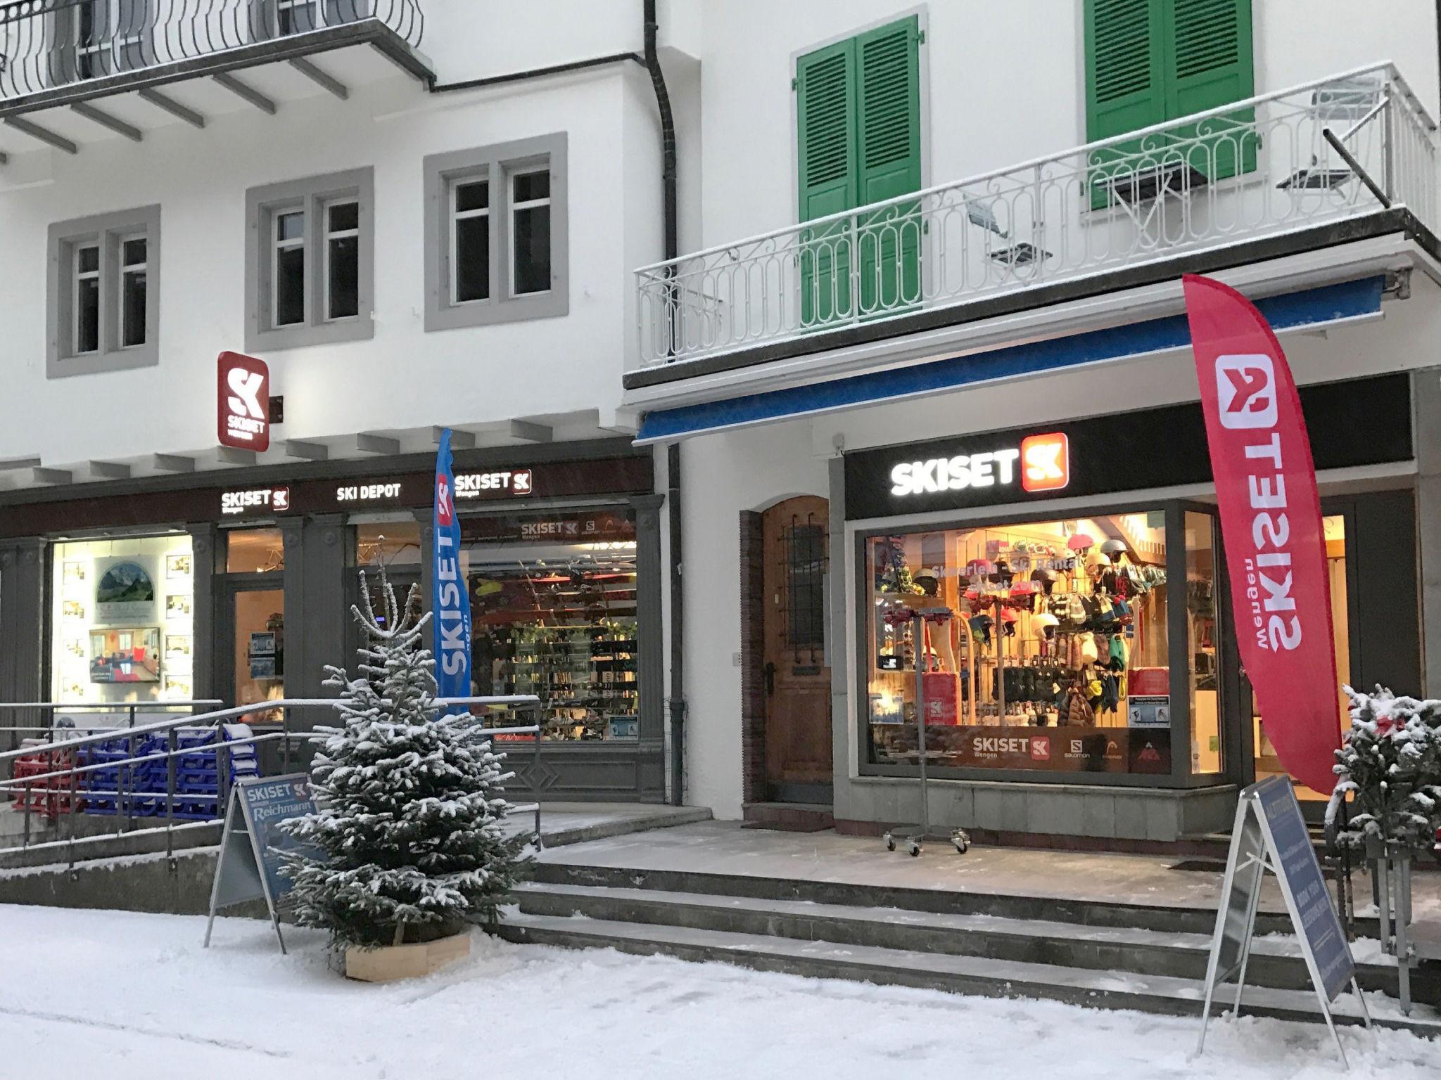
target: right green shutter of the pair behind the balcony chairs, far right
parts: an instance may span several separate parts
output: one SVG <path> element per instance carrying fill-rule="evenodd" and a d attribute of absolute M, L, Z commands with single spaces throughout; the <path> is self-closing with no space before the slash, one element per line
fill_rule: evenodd
<path fill-rule="evenodd" d="M 1161 33 L 1166 115 L 1189 117 L 1255 94 L 1251 56 L 1251 0 L 1164 0 Z M 1255 109 L 1206 121 L 1223 128 L 1189 151 L 1192 167 L 1212 180 L 1257 167 Z M 1195 137 L 1189 128 L 1176 131 Z"/>

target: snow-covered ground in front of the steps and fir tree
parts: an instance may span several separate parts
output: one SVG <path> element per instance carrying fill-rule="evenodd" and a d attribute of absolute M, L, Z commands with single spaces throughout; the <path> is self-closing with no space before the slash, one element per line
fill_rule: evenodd
<path fill-rule="evenodd" d="M 476 937 L 431 979 L 369 986 L 318 935 L 226 919 L 0 906 L 0 1076 L 1066 1080 L 1336 1077 L 1326 1028 L 1213 1024 L 767 975 Z M 1434 1080 L 1441 1043 L 1343 1031 L 1352 1076 Z"/>

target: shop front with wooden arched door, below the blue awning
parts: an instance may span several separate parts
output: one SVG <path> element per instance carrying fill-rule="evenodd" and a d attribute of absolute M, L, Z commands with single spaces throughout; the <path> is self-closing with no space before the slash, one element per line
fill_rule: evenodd
<path fill-rule="evenodd" d="M 1441 373 L 1435 287 L 1408 278 L 1252 295 L 1301 384 L 1340 678 L 1419 694 L 1441 678 L 1418 528 L 1441 513 Z M 1072 324 L 940 357 L 935 334 L 860 327 L 899 359 L 826 380 L 669 373 L 690 399 L 641 442 L 682 444 L 690 492 L 689 801 L 916 821 L 918 662 L 931 821 L 983 840 L 1179 850 L 1282 772 L 1238 662 L 1180 282 Z"/>

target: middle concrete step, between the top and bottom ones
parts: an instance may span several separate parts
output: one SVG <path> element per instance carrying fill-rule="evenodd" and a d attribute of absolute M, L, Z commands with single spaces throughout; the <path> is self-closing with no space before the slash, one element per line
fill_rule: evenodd
<path fill-rule="evenodd" d="M 1172 975 L 1202 981 L 1210 935 L 1140 927 L 1082 927 L 1043 919 L 945 914 L 898 909 L 816 904 L 804 900 L 754 900 L 647 888 L 550 886 L 530 883 L 516 899 L 526 914 L 585 916 L 601 922 L 644 923 L 752 936 L 794 937 L 833 945 L 865 945 L 948 956 L 1056 965 L 1089 971 Z M 1359 965 L 1365 989 L 1396 996 L 1396 968 Z M 1258 986 L 1304 991 L 1306 963 L 1291 940 L 1258 939 L 1246 981 Z M 1441 982 L 1412 976 L 1421 1001 L 1441 999 Z"/>

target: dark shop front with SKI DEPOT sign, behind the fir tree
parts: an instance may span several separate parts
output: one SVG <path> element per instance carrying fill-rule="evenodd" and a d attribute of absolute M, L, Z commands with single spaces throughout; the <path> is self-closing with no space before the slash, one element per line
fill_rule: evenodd
<path fill-rule="evenodd" d="M 131 704 L 143 723 L 167 703 L 331 696 L 324 665 L 353 667 L 362 644 L 362 570 L 372 593 L 383 569 L 429 606 L 434 469 L 411 454 L 0 492 L 0 701 L 58 703 L 84 727 L 122 726 Z M 458 449 L 455 500 L 471 688 L 542 703 L 543 753 L 517 756 L 520 783 L 661 801 L 650 452 Z"/>

